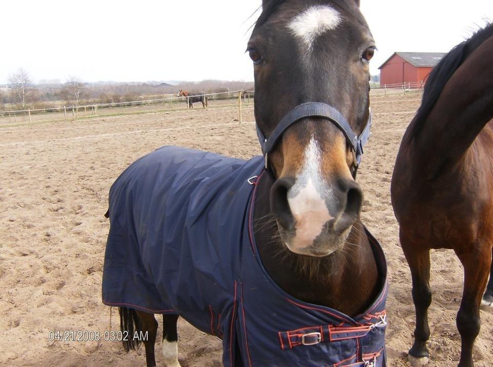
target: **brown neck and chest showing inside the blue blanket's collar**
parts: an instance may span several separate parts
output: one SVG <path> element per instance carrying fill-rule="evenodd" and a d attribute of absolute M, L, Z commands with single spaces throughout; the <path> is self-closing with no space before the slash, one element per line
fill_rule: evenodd
<path fill-rule="evenodd" d="M 288 294 L 349 316 L 362 313 L 379 291 L 378 269 L 361 222 L 354 224 L 340 253 L 316 258 L 290 252 L 279 239 L 269 205 L 272 182 L 263 175 L 255 199 L 254 231 L 260 258 Z"/>

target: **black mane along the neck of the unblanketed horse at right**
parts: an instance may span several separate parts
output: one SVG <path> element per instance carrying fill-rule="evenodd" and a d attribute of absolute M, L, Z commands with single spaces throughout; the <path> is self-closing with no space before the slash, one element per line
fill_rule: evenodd
<path fill-rule="evenodd" d="M 425 85 L 421 106 L 409 125 L 408 139 L 414 138 L 419 133 L 452 74 L 491 35 L 493 35 L 493 24 L 488 24 L 468 40 L 452 48 L 433 68 Z"/>

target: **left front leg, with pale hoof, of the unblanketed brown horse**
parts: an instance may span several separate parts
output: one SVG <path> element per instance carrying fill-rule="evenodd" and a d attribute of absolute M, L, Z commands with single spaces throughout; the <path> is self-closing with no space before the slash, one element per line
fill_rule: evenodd
<path fill-rule="evenodd" d="M 407 239 L 401 233 L 401 246 L 404 250 L 412 277 L 412 300 L 416 310 L 416 328 L 414 329 L 414 344 L 409 350 L 410 361 L 412 359 L 428 358 L 426 342 L 430 337 L 430 327 L 428 325 L 428 307 L 431 304 L 430 289 L 430 250 L 420 248 Z M 426 363 L 425 360 L 423 360 Z M 420 362 L 421 363 L 421 362 Z"/>

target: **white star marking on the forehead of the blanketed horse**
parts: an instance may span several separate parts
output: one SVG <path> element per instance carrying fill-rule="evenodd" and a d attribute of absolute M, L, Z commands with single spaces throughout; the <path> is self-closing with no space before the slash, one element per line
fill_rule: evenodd
<path fill-rule="evenodd" d="M 339 23 L 340 15 L 337 10 L 327 5 L 316 5 L 296 15 L 288 28 L 311 50 L 318 36 L 335 29 Z"/>

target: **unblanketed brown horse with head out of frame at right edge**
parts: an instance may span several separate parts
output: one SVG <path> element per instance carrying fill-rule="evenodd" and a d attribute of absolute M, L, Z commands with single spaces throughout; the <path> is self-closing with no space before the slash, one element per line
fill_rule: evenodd
<path fill-rule="evenodd" d="M 459 366 L 472 366 L 493 244 L 493 25 L 453 48 L 430 74 L 404 134 L 391 198 L 412 275 L 413 363 L 427 361 L 430 249 L 451 248 L 464 265 L 457 315 Z M 490 280 L 483 303 L 493 300 Z M 424 360 L 423 360 L 424 359 Z"/>

